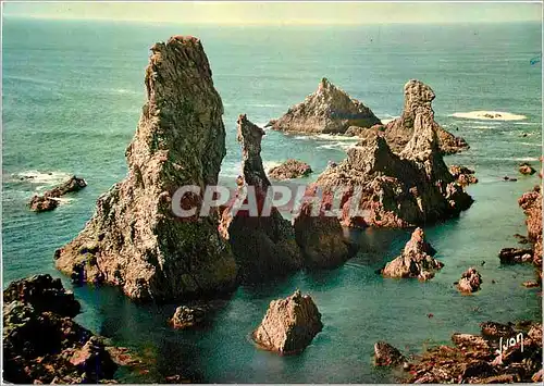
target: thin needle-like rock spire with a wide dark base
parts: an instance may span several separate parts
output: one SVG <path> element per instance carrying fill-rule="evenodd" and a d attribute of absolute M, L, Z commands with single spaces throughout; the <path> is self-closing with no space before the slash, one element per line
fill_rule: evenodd
<path fill-rule="evenodd" d="M 239 115 L 237 124 L 244 170 L 237 195 L 243 195 L 248 187 L 255 189 L 258 215 L 251 215 L 248 210 L 239 210 L 233 216 L 233 202 L 223 211 L 220 231 L 231 242 L 243 281 L 270 279 L 300 269 L 302 257 L 293 226 L 282 217 L 280 211 L 271 208 L 270 215 L 261 215 L 270 187 L 260 154 L 264 130 L 252 124 L 246 115 Z M 245 202 L 248 203 L 249 199 L 250 191 Z"/>

